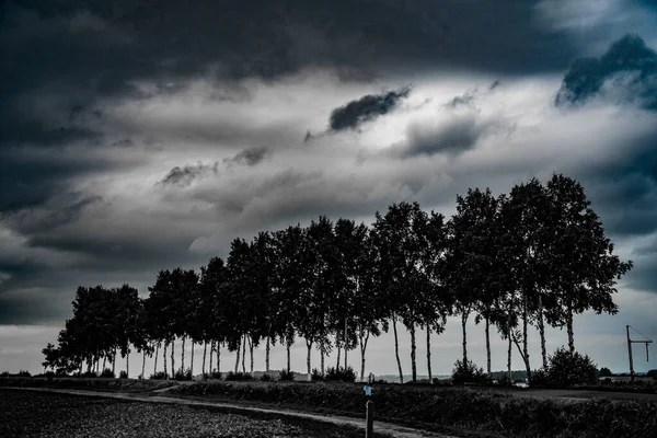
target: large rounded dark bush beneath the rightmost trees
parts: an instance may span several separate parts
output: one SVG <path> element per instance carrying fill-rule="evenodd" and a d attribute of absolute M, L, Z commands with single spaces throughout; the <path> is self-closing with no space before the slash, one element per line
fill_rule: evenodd
<path fill-rule="evenodd" d="M 548 377 L 550 384 L 558 388 L 597 384 L 598 367 L 587 355 L 561 347 L 550 356 Z"/>

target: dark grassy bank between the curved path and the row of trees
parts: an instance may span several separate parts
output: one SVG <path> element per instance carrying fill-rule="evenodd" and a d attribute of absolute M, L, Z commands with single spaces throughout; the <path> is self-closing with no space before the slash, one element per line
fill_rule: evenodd
<path fill-rule="evenodd" d="M 301 410 L 362 416 L 361 387 L 326 383 L 204 382 L 172 390 Z M 539 400 L 466 388 L 378 385 L 377 418 L 452 433 L 511 437 L 654 437 L 657 403 Z"/>

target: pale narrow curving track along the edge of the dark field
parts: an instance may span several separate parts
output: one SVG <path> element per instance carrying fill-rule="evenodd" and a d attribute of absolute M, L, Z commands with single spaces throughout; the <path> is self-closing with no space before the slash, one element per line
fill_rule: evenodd
<path fill-rule="evenodd" d="M 9 389 L 9 388 L 8 388 Z M 139 402 L 150 402 L 150 403 L 160 403 L 160 404 L 173 404 L 173 405 L 182 405 L 182 406 L 200 406 L 200 407 L 214 407 L 214 408 L 222 408 L 230 410 L 230 412 L 234 413 L 244 413 L 244 414 L 260 414 L 260 415 L 275 415 L 277 417 L 289 417 L 289 418 L 299 418 L 311 422 L 322 422 L 328 423 L 335 426 L 351 426 L 357 427 L 359 429 L 365 428 L 365 420 L 355 419 L 350 417 L 343 416 L 328 416 L 328 415 L 318 415 L 318 414 L 308 414 L 301 412 L 291 412 L 291 411 L 283 411 L 283 410 L 273 410 L 273 408 L 262 408 L 262 407 L 247 407 L 242 405 L 235 405 L 230 403 L 219 403 L 219 402 L 209 402 L 209 401 L 197 401 L 197 400 L 187 400 L 187 399 L 178 399 L 166 395 L 146 395 L 146 394 L 128 394 L 128 393 L 116 393 L 116 392 L 96 392 L 96 391 L 87 391 L 87 390 L 69 390 L 69 389 L 53 389 L 53 388 L 15 388 L 15 390 L 23 391 L 34 391 L 34 392 L 49 392 L 57 394 L 69 394 L 69 395 L 84 395 L 92 397 L 103 397 L 103 399 L 112 399 L 112 400 L 120 400 L 120 401 L 139 401 Z M 384 436 L 394 437 L 394 438 L 418 438 L 418 437 L 434 437 L 434 438 L 453 438 L 447 435 L 440 435 L 435 433 L 428 433 L 417 429 L 412 429 L 404 426 L 393 425 L 390 423 L 383 422 L 374 422 L 374 430 L 378 433 L 378 436 L 384 434 Z M 362 434 L 362 431 L 360 433 Z M 1 435 L 1 434 L 0 434 Z M 178 435 L 182 436 L 182 435 Z M 196 435 L 200 436 L 200 435 Z M 211 435 L 211 436 L 222 436 L 222 435 Z M 235 436 L 238 435 L 229 435 Z M 241 435 L 239 435 L 241 436 Z M 261 437 L 262 435 L 245 435 L 253 437 Z M 274 437 L 276 435 L 266 435 L 268 437 Z M 303 436 L 303 435 L 280 435 L 280 436 Z M 311 435 L 315 436 L 315 435 Z"/>

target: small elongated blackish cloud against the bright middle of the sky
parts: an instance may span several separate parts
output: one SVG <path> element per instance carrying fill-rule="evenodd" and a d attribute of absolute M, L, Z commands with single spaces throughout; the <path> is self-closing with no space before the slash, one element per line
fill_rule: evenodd
<path fill-rule="evenodd" d="M 356 129 L 366 122 L 393 111 L 402 99 L 411 93 L 411 87 L 381 94 L 368 94 L 331 112 L 328 129 L 341 131 Z M 307 137 L 308 138 L 308 137 Z"/>

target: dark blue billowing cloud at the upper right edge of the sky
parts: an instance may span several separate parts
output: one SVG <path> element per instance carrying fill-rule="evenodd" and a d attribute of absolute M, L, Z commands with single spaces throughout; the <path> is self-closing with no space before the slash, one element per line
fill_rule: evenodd
<path fill-rule="evenodd" d="M 575 61 L 564 77 L 555 104 L 584 104 L 600 94 L 657 111 L 657 53 L 639 36 L 625 35 L 600 58 Z"/>

